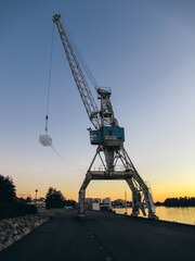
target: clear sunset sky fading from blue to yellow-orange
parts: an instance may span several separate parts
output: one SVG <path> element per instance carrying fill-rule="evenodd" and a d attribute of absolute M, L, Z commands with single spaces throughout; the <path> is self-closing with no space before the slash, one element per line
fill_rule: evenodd
<path fill-rule="evenodd" d="M 125 147 L 154 201 L 195 197 L 195 1 L 1 0 L 0 174 L 18 195 L 55 187 L 77 200 L 95 153 L 92 127 L 54 27 L 49 134 L 44 134 L 52 16 L 61 13 L 125 127 Z M 92 88 L 92 87 L 91 87 Z M 94 98 L 96 94 L 92 88 Z M 100 101 L 96 100 L 99 103 Z M 128 200 L 125 182 L 92 182 L 87 197 Z"/>

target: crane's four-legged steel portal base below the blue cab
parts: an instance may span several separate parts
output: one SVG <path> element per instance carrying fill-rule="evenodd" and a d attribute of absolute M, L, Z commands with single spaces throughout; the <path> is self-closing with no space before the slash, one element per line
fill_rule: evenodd
<path fill-rule="evenodd" d="M 96 149 L 96 153 L 91 162 L 91 165 L 86 174 L 86 178 L 80 187 L 79 190 L 79 211 L 78 215 L 83 216 L 84 215 L 84 199 L 86 199 L 86 189 L 91 181 L 126 181 L 129 188 L 132 191 L 132 216 L 138 216 L 140 214 L 140 211 L 142 211 L 143 215 L 147 215 L 148 219 L 157 220 L 158 217 L 155 214 L 155 206 L 153 202 L 152 194 L 150 192 L 148 187 L 143 182 L 141 176 L 139 175 L 138 171 L 133 166 L 128 153 L 126 152 L 123 146 L 120 146 L 120 149 L 117 149 L 117 151 L 114 151 L 114 159 L 113 162 L 115 162 L 115 158 L 118 160 L 121 160 L 123 163 L 123 171 L 115 171 L 116 165 L 110 166 L 108 169 L 108 164 L 106 164 L 106 160 L 104 164 L 103 171 L 92 171 L 92 165 L 98 156 L 100 156 L 101 152 L 105 152 L 105 148 L 103 149 L 100 145 Z M 105 152 L 106 154 L 106 152 Z M 100 156 L 101 157 L 101 156 Z M 109 154 L 110 157 L 110 154 Z M 102 157 L 101 157 L 102 159 Z M 106 156 L 105 156 L 106 159 Z M 110 159 L 110 158 L 109 158 Z M 103 161 L 103 160 L 102 160 Z M 147 209 L 147 214 L 145 210 Z"/>

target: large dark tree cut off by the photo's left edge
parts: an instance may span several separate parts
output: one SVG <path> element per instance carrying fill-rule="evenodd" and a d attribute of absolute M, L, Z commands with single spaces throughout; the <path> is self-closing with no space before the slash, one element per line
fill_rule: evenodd
<path fill-rule="evenodd" d="M 15 185 L 12 177 L 4 177 L 0 174 L 0 202 L 14 201 L 15 199 Z"/>

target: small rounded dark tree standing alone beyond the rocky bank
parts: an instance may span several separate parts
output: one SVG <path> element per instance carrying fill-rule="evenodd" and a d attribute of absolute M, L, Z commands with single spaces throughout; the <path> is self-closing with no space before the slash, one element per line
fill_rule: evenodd
<path fill-rule="evenodd" d="M 47 209 L 60 209 L 64 208 L 65 198 L 62 192 L 55 188 L 50 187 L 46 197 L 46 208 Z"/>

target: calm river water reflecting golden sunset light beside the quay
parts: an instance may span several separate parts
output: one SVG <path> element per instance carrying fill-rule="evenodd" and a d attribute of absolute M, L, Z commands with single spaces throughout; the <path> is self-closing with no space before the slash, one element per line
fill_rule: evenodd
<path fill-rule="evenodd" d="M 114 209 L 118 214 L 125 214 L 126 209 Z M 131 208 L 127 209 L 127 214 L 130 215 L 132 212 Z M 159 220 L 173 221 L 184 224 L 195 225 L 195 208 L 170 208 L 170 207 L 156 207 L 156 215 Z M 143 215 L 140 215 L 143 216 Z"/>

